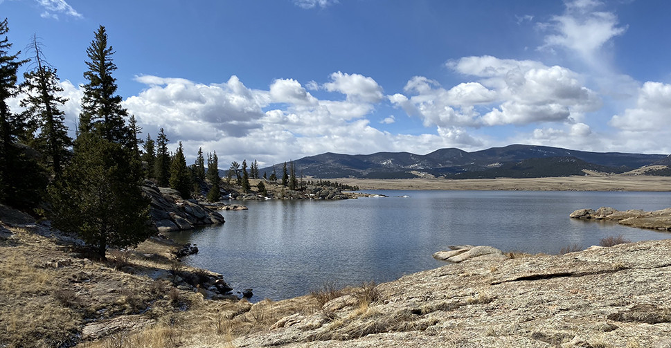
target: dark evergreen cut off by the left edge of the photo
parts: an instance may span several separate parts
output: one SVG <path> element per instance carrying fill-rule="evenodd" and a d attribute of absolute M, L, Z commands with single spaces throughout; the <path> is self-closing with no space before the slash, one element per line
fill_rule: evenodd
<path fill-rule="evenodd" d="M 0 36 L 9 31 L 0 21 Z M 17 70 L 26 60 L 10 54 L 7 36 L 0 40 L 0 202 L 15 208 L 34 208 L 42 199 L 46 176 L 29 148 L 20 144 L 29 132 L 24 118 L 10 112 L 7 100 L 17 93 Z"/>

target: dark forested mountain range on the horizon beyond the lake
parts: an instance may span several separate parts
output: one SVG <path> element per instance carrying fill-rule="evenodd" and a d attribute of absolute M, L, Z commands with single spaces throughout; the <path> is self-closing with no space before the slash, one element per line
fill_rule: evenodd
<path fill-rule="evenodd" d="M 553 158 L 551 161 L 529 161 Z M 667 158 L 661 154 L 626 154 L 620 152 L 584 152 L 560 147 L 509 145 L 476 152 L 461 149 L 438 149 L 430 154 L 378 152 L 370 155 L 333 154 L 308 156 L 294 161 L 296 175 L 315 178 L 411 178 L 416 172 L 454 178 L 567 176 L 582 170 L 625 172 Z M 668 159 L 667 159 L 668 160 Z M 528 170 L 521 168 L 527 167 Z M 579 169 L 580 168 L 580 169 Z M 275 165 L 282 176 L 282 164 Z M 273 172 L 272 167 L 260 172 Z M 481 174 L 472 174 L 481 172 Z M 467 174 L 469 173 L 469 174 Z M 526 173 L 526 174 L 524 174 Z M 456 175 L 459 174 L 459 175 Z"/>

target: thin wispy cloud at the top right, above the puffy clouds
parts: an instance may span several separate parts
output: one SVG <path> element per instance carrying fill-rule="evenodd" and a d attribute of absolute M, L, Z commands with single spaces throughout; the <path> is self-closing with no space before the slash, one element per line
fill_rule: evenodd
<path fill-rule="evenodd" d="M 601 48 L 627 30 L 626 26 L 618 26 L 618 17 L 613 12 L 599 11 L 602 5 L 595 0 L 567 2 L 563 15 L 554 16 L 550 22 L 541 25 L 551 33 L 540 48 L 566 48 L 587 62 L 596 63 Z"/>

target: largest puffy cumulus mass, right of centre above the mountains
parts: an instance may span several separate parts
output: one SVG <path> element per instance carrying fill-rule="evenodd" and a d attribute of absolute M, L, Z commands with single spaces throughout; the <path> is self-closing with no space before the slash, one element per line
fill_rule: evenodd
<path fill-rule="evenodd" d="M 582 113 L 601 107 L 598 95 L 580 83 L 580 76 L 562 66 L 488 55 L 463 57 L 447 66 L 478 81 L 444 89 L 416 76 L 404 88 L 410 97 L 397 93 L 388 99 L 408 115 L 422 118 L 427 127 L 575 122 Z"/>

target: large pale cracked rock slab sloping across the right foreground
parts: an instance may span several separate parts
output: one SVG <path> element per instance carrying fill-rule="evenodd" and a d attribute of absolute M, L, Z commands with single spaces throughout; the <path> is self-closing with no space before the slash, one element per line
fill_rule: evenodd
<path fill-rule="evenodd" d="M 669 250 L 671 240 L 470 259 L 284 315 L 232 345 L 668 347 Z"/>

